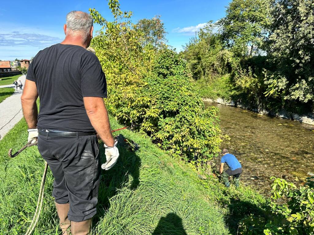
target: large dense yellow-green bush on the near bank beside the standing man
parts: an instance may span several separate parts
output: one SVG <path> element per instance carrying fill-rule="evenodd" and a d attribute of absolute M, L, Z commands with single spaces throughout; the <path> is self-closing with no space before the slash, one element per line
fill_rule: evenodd
<path fill-rule="evenodd" d="M 203 162 L 219 151 L 217 109 L 204 110 L 182 58 L 166 46 L 148 44 L 134 27 L 131 13 L 109 1 L 115 20 L 108 22 L 90 9 L 103 30 L 92 41 L 107 76 L 106 105 L 120 122 L 146 132 L 172 156 Z"/>

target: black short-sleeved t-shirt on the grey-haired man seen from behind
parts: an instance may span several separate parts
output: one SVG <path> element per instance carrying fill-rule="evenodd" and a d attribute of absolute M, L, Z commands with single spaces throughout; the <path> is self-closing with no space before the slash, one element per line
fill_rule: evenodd
<path fill-rule="evenodd" d="M 37 128 L 93 132 L 83 97 L 107 97 L 106 78 L 96 55 L 81 46 L 56 44 L 38 52 L 26 79 L 37 86 Z"/>

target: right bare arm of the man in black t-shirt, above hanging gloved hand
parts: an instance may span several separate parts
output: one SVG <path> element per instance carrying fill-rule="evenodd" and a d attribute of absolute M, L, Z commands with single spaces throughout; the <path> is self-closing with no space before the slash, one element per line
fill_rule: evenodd
<path fill-rule="evenodd" d="M 83 100 L 90 123 L 99 137 L 107 146 L 113 146 L 114 139 L 104 99 L 101 97 L 84 97 Z"/>

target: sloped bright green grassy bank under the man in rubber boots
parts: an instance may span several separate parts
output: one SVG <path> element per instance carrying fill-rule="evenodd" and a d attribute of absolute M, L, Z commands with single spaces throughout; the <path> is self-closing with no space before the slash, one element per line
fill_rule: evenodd
<path fill-rule="evenodd" d="M 111 118 L 111 127 L 120 125 Z M 44 161 L 35 146 L 14 159 L 7 156 L 9 147 L 25 144 L 26 129 L 22 119 L 0 141 L 1 235 L 24 234 L 35 212 Z M 120 148 L 117 165 L 103 171 L 93 234 L 230 234 L 239 219 L 265 203 L 249 189 L 226 190 L 212 176 L 199 179 L 191 166 L 170 158 L 141 134 L 121 133 L 141 147 L 135 153 Z M 52 182 L 49 170 L 36 235 L 58 234 Z"/>

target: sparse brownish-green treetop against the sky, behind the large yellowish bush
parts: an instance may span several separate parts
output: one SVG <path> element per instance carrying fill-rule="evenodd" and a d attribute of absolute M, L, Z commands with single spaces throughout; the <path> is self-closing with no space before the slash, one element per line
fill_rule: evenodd
<path fill-rule="evenodd" d="M 151 19 L 140 19 L 134 28 L 143 33 L 142 45 L 152 44 L 156 48 L 160 48 L 167 42 L 166 30 L 164 23 L 157 15 Z"/>

